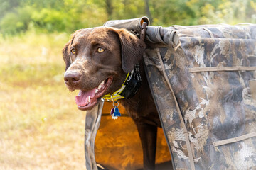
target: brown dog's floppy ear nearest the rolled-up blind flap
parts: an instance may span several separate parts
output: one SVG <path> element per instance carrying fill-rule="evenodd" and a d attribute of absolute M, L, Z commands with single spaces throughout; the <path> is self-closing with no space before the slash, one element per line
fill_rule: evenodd
<path fill-rule="evenodd" d="M 117 33 L 121 42 L 122 69 L 128 73 L 134 69 L 139 60 L 142 60 L 146 45 L 128 30 L 119 29 Z"/>

